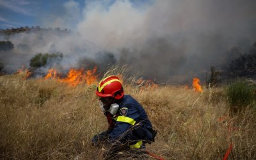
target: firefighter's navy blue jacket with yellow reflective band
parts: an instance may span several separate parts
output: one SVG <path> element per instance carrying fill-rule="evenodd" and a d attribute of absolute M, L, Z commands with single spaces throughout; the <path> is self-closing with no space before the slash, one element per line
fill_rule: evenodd
<path fill-rule="evenodd" d="M 115 141 L 123 136 L 126 139 L 129 138 L 129 140 L 137 139 L 132 136 L 132 132 L 129 131 L 129 129 L 138 125 L 143 127 L 146 131 L 143 131 L 140 134 L 152 135 L 150 132 L 152 131 L 152 124 L 148 120 L 147 113 L 143 107 L 131 97 L 131 95 L 124 95 L 117 104 L 119 105 L 118 112 L 116 115 L 111 115 L 113 118 L 113 125 L 108 129 L 109 140 Z M 141 136 L 143 137 L 145 135 Z"/>

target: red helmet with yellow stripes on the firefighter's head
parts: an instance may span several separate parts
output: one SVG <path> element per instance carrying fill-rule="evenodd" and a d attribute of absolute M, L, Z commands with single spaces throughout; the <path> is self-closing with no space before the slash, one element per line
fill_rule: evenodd
<path fill-rule="evenodd" d="M 96 95 L 99 97 L 114 97 L 115 99 L 122 99 L 122 97 L 124 97 L 122 83 L 116 76 L 106 77 L 100 81 Z"/>

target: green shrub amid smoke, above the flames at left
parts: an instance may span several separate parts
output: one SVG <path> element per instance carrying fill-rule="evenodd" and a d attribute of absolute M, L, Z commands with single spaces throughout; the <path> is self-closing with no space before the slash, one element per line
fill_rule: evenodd
<path fill-rule="evenodd" d="M 52 54 L 38 53 L 33 58 L 31 58 L 29 65 L 30 65 L 30 67 L 38 68 L 38 67 L 42 67 L 42 66 L 46 65 L 47 61 L 49 61 L 49 60 L 53 60 L 56 58 L 62 58 L 62 57 L 63 57 L 62 53 L 52 53 Z"/>

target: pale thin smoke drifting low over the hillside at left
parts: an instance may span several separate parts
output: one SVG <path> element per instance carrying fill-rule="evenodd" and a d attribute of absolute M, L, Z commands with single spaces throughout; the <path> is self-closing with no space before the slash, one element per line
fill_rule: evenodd
<path fill-rule="evenodd" d="M 6 40 L 1 37 L 0 40 Z M 0 51 L 0 61 L 6 72 L 17 71 L 23 65 L 29 67 L 29 62 L 38 53 L 63 53 L 60 61 L 49 61 L 49 65 L 41 67 L 42 72 L 47 72 L 50 67 L 58 67 L 60 70 L 78 68 L 81 58 L 93 58 L 93 53 L 99 52 L 99 47 L 84 40 L 75 33 L 68 33 L 60 29 L 39 29 L 29 33 L 19 33 L 8 37 L 14 49 Z"/>

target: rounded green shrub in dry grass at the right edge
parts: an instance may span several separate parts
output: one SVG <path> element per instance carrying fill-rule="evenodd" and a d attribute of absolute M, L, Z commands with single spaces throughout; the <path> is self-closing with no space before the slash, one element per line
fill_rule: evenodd
<path fill-rule="evenodd" d="M 232 109 L 236 111 L 246 106 L 253 106 L 255 101 L 255 86 L 245 81 L 237 81 L 228 85 L 227 97 Z"/>

